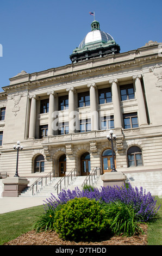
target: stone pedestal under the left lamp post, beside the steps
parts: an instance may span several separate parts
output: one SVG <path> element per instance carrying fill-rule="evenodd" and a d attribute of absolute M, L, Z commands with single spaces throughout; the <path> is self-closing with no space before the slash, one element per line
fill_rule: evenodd
<path fill-rule="evenodd" d="M 13 177 L 6 178 L 3 180 L 4 191 L 2 192 L 3 197 L 18 197 L 21 192 L 29 184 L 29 181 L 26 178 Z"/>

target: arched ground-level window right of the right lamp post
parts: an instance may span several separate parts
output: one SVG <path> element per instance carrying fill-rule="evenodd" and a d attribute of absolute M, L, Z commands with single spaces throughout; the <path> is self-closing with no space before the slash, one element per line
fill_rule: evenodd
<path fill-rule="evenodd" d="M 142 166 L 142 150 L 139 147 L 130 147 L 127 151 L 128 167 Z"/>

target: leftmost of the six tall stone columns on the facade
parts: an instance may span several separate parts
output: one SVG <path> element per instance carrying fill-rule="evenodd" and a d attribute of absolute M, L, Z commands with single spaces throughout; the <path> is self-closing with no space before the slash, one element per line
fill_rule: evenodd
<path fill-rule="evenodd" d="M 30 123 L 29 123 L 29 138 L 35 138 L 35 117 L 36 117 L 36 95 L 30 96 Z"/>

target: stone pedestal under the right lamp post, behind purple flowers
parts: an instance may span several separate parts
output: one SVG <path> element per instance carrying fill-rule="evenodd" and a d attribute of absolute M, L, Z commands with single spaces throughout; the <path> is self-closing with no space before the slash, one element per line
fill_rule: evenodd
<path fill-rule="evenodd" d="M 126 175 L 124 175 L 122 172 L 109 172 L 104 173 L 101 176 L 101 179 L 103 180 L 103 186 L 123 186 L 126 182 Z"/>

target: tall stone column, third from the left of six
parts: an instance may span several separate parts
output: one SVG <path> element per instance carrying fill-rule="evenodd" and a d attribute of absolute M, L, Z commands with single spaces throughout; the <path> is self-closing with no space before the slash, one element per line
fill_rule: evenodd
<path fill-rule="evenodd" d="M 67 88 L 66 91 L 68 92 L 68 126 L 69 126 L 69 133 L 75 132 L 77 121 L 75 120 L 75 101 L 74 101 L 74 87 Z"/>

